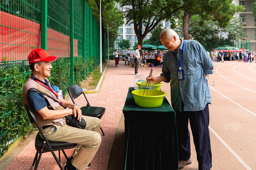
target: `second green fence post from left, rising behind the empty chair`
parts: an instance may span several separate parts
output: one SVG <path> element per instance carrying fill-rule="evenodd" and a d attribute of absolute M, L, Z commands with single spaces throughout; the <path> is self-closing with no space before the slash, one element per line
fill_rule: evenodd
<path fill-rule="evenodd" d="M 70 0 L 70 80 L 74 84 L 74 0 Z"/>

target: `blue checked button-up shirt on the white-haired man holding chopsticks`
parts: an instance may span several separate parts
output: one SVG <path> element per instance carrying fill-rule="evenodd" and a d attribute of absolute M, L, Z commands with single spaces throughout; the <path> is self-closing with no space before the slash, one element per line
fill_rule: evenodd
<path fill-rule="evenodd" d="M 213 73 L 213 63 L 205 48 L 195 40 L 185 40 L 181 69 L 184 70 L 184 80 L 178 80 L 177 70 L 183 46 L 176 51 L 167 51 L 162 67 L 165 82 L 170 82 L 171 103 L 174 110 L 181 111 L 181 102 L 184 102 L 184 111 L 200 111 L 207 103 L 211 104 L 211 94 L 205 74 Z M 174 53 L 173 53 L 174 52 Z M 175 56 L 174 56 L 175 55 Z M 171 81 L 172 80 L 172 81 Z"/>

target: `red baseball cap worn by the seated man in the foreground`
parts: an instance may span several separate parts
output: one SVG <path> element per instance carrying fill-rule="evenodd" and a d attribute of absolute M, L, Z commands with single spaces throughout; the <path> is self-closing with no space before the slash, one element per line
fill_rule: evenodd
<path fill-rule="evenodd" d="M 28 55 L 28 64 L 33 64 L 39 61 L 52 62 L 56 60 L 58 57 L 49 56 L 49 54 L 44 49 L 35 49 L 31 51 Z"/>

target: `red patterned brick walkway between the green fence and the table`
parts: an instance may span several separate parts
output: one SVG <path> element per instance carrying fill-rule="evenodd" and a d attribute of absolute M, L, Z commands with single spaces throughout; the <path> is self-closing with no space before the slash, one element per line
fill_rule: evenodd
<path fill-rule="evenodd" d="M 125 65 L 124 61 L 119 61 L 118 66 L 119 67 L 115 67 L 115 61 L 110 61 L 106 68 L 99 92 L 86 94 L 91 106 L 101 106 L 106 108 L 106 112 L 101 118 L 102 129 L 105 136 L 102 136 L 101 146 L 91 161 L 90 170 L 107 169 L 111 148 L 115 139 L 119 120 L 122 116 L 128 88 L 134 86 L 134 68 Z M 144 70 L 140 67 L 138 68 L 138 72 L 144 74 L 146 77 L 146 75 L 150 73 L 151 68 L 152 67 L 145 67 Z M 153 72 L 153 75 L 158 74 L 161 72 L 161 67 L 154 67 Z M 76 99 L 76 103 L 79 106 L 86 105 L 83 96 Z M 99 133 L 101 133 L 100 130 Z M 30 169 L 36 153 L 34 143 L 35 140 L 31 140 L 5 170 Z M 73 149 L 66 150 L 65 152 L 69 157 L 72 155 Z M 58 156 L 58 152 L 55 153 Z M 65 162 L 65 156 L 61 154 L 61 164 L 64 165 Z M 59 169 L 58 164 L 55 162 L 51 153 L 48 152 L 42 154 L 38 170 L 41 169 Z"/>

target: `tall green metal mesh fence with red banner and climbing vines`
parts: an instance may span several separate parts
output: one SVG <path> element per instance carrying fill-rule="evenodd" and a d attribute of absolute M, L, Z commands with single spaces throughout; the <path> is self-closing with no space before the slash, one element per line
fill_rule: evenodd
<path fill-rule="evenodd" d="M 52 62 L 49 79 L 65 95 L 68 86 L 79 84 L 98 64 L 100 29 L 86 0 L 0 0 L 0 17 L 2 156 L 10 143 L 31 130 L 25 127 L 21 103 L 22 87 L 31 75 L 29 53 L 44 48 L 59 57 Z M 105 62 L 106 38 L 102 35 Z"/>

